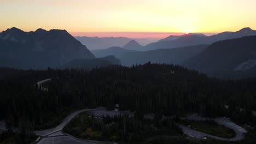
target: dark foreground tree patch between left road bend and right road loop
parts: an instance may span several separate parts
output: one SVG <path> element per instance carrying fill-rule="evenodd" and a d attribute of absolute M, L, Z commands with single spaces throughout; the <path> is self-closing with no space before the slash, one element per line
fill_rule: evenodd
<path fill-rule="evenodd" d="M 142 142 L 148 137 L 158 135 L 183 134 L 172 118 L 164 119 L 164 121 L 161 121 L 161 118 L 143 119 L 128 115 L 96 117 L 91 113 L 81 113 L 66 125 L 64 131 L 80 139 L 119 142 Z"/>

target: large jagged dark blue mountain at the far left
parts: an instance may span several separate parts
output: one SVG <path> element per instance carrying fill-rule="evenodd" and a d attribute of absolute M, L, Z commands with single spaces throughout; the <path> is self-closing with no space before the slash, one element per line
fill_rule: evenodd
<path fill-rule="evenodd" d="M 24 32 L 14 27 L 0 33 L 0 67 L 41 69 L 77 58 L 95 56 L 65 30 Z"/>

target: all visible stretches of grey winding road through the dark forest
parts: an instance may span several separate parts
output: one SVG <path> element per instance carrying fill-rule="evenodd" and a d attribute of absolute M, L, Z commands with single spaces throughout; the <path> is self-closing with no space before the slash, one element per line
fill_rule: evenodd
<path fill-rule="evenodd" d="M 42 83 L 48 82 L 48 81 L 51 81 L 51 79 L 46 79 L 46 80 L 43 80 L 43 81 L 39 81 L 39 82 L 37 82 L 37 85 L 42 86 Z M 47 88 L 43 87 L 43 91 L 47 91 L 47 90 L 48 90 Z M 55 144 L 59 144 L 59 143 L 69 143 L 69 144 L 106 143 L 106 142 L 100 142 L 100 141 L 80 140 L 80 139 L 77 139 L 77 138 L 75 138 L 71 135 L 62 133 L 62 130 L 65 127 L 65 125 L 67 125 L 68 122 L 70 122 L 72 118 L 74 118 L 75 116 L 79 115 L 79 113 L 82 113 L 82 112 L 92 112 L 92 113 L 94 113 L 94 115 L 96 117 L 107 116 L 107 115 L 109 115 L 110 117 L 114 117 L 115 115 L 123 115 L 125 113 L 128 114 L 130 117 L 133 116 L 133 113 L 131 113 L 130 111 L 107 111 L 105 107 L 97 107 L 96 109 L 84 109 L 84 110 L 75 111 L 75 112 L 71 113 L 69 116 L 67 116 L 65 119 L 63 119 L 62 123 L 57 125 L 57 127 L 55 127 L 55 128 L 34 131 L 34 133 L 37 134 L 39 137 L 33 143 L 38 143 L 38 144 L 50 144 L 50 143 L 53 143 L 53 144 L 54 143 Z M 195 114 L 194 115 L 188 115 L 187 118 L 195 120 L 195 121 L 205 121 L 207 119 L 210 119 L 210 118 L 200 117 L 200 116 L 195 115 Z M 213 119 L 213 120 L 216 121 L 219 124 L 225 125 L 226 127 L 229 127 L 231 129 L 235 130 L 236 136 L 228 139 L 228 138 L 223 138 L 223 137 L 218 137 L 218 136 L 213 136 L 213 135 L 209 135 L 209 134 L 206 134 L 206 133 L 202 133 L 200 131 L 190 129 L 189 127 L 185 127 L 183 125 L 179 125 L 179 127 L 182 128 L 182 131 L 183 131 L 184 134 L 186 134 L 188 136 L 191 136 L 191 137 L 194 137 L 196 139 L 203 139 L 204 137 L 207 136 L 207 137 L 211 137 L 212 139 L 217 139 L 217 140 L 237 141 L 237 140 L 242 140 L 245 137 L 245 133 L 247 133 L 247 131 L 245 129 L 243 129 L 239 125 L 236 125 L 235 123 L 231 122 L 228 118 L 223 117 L 223 118 L 216 118 L 216 119 Z M 6 130 L 4 121 L 0 121 L 0 130 Z"/>

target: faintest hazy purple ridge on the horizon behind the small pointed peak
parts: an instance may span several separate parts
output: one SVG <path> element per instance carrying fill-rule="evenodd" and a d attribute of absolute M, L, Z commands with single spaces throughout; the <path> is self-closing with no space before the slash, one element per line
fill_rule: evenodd
<path fill-rule="evenodd" d="M 125 44 L 129 43 L 129 41 L 133 40 L 125 37 L 75 37 L 75 39 L 79 40 L 82 44 L 86 45 L 89 50 L 100 50 L 106 49 L 107 47 L 123 47 Z M 135 39 L 139 44 L 147 45 L 153 43 L 155 40 L 152 39 Z"/>

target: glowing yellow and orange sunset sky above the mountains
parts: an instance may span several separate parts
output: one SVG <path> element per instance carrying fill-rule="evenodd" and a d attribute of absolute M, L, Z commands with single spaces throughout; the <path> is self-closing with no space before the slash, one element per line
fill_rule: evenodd
<path fill-rule="evenodd" d="M 256 29 L 255 5 L 255 0 L 0 0 L 0 31 L 66 29 L 75 36 L 141 38 L 211 34 Z"/>

